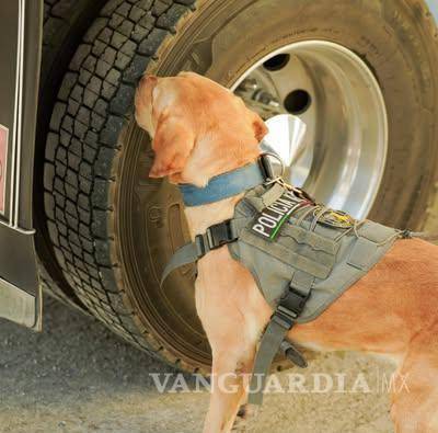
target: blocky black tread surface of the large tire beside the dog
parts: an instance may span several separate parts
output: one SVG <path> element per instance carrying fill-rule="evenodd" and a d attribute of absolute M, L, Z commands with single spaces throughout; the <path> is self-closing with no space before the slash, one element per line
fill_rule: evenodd
<path fill-rule="evenodd" d="M 69 287 L 113 331 L 153 354 L 159 352 L 173 365 L 180 360 L 146 335 L 146 330 L 136 323 L 134 309 L 122 300 L 118 263 L 108 254 L 114 233 L 107 231 L 106 225 L 114 209 L 107 193 L 119 153 L 113 133 L 129 114 L 138 78 L 152 57 L 135 57 L 136 50 L 140 44 L 158 48 L 172 35 L 178 19 L 191 11 L 191 3 L 192 0 L 106 3 L 62 80 L 44 164 L 46 227 Z"/>

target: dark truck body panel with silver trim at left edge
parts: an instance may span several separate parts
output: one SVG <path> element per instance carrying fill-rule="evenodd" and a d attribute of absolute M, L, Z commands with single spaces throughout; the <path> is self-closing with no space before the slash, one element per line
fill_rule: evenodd
<path fill-rule="evenodd" d="M 41 329 L 32 223 L 43 1 L 0 3 L 0 317 Z"/>

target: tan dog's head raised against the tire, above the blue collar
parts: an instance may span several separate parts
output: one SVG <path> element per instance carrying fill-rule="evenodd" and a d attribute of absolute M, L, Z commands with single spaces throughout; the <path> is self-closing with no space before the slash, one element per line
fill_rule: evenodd
<path fill-rule="evenodd" d="M 198 186 L 254 160 L 267 133 L 240 98 L 193 72 L 143 77 L 136 92 L 136 119 L 152 138 L 155 159 L 149 175 Z"/>

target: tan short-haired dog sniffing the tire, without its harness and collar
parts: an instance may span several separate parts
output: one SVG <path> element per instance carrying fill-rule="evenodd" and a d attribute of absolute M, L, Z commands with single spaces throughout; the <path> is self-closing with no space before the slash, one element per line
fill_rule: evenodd
<path fill-rule="evenodd" d="M 135 106 L 138 125 L 152 139 L 150 178 L 203 187 L 216 175 L 254 162 L 262 152 L 267 133 L 262 118 L 228 89 L 196 73 L 145 76 Z M 241 198 L 239 194 L 187 207 L 192 238 L 232 218 Z M 247 377 L 273 310 L 227 246 L 198 261 L 195 290 L 212 353 L 204 432 L 226 433 L 247 399 Z M 397 240 L 366 276 L 318 319 L 293 327 L 288 339 L 313 350 L 390 357 L 407 381 L 391 395 L 396 432 L 438 432 L 438 248 L 433 243 Z M 219 384 L 221 377 L 226 379 Z M 223 385 L 233 392 L 224 392 Z"/>

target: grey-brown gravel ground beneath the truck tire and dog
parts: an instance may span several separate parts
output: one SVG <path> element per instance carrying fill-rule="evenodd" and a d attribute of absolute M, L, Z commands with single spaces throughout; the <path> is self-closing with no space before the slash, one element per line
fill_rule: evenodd
<path fill-rule="evenodd" d="M 160 394 L 150 374 L 173 375 L 172 368 L 89 317 L 51 299 L 45 305 L 41 334 L 0 322 L 1 432 L 201 431 L 208 392 Z M 393 432 L 388 394 L 379 389 L 389 365 L 353 354 L 323 355 L 306 374 L 307 390 L 314 389 L 312 375 L 320 372 L 335 379 L 346 374 L 349 391 L 359 378 L 358 391 L 269 394 L 251 431 Z M 289 379 L 287 373 L 277 377 L 284 385 Z M 194 380 L 187 383 L 193 389 Z"/>

